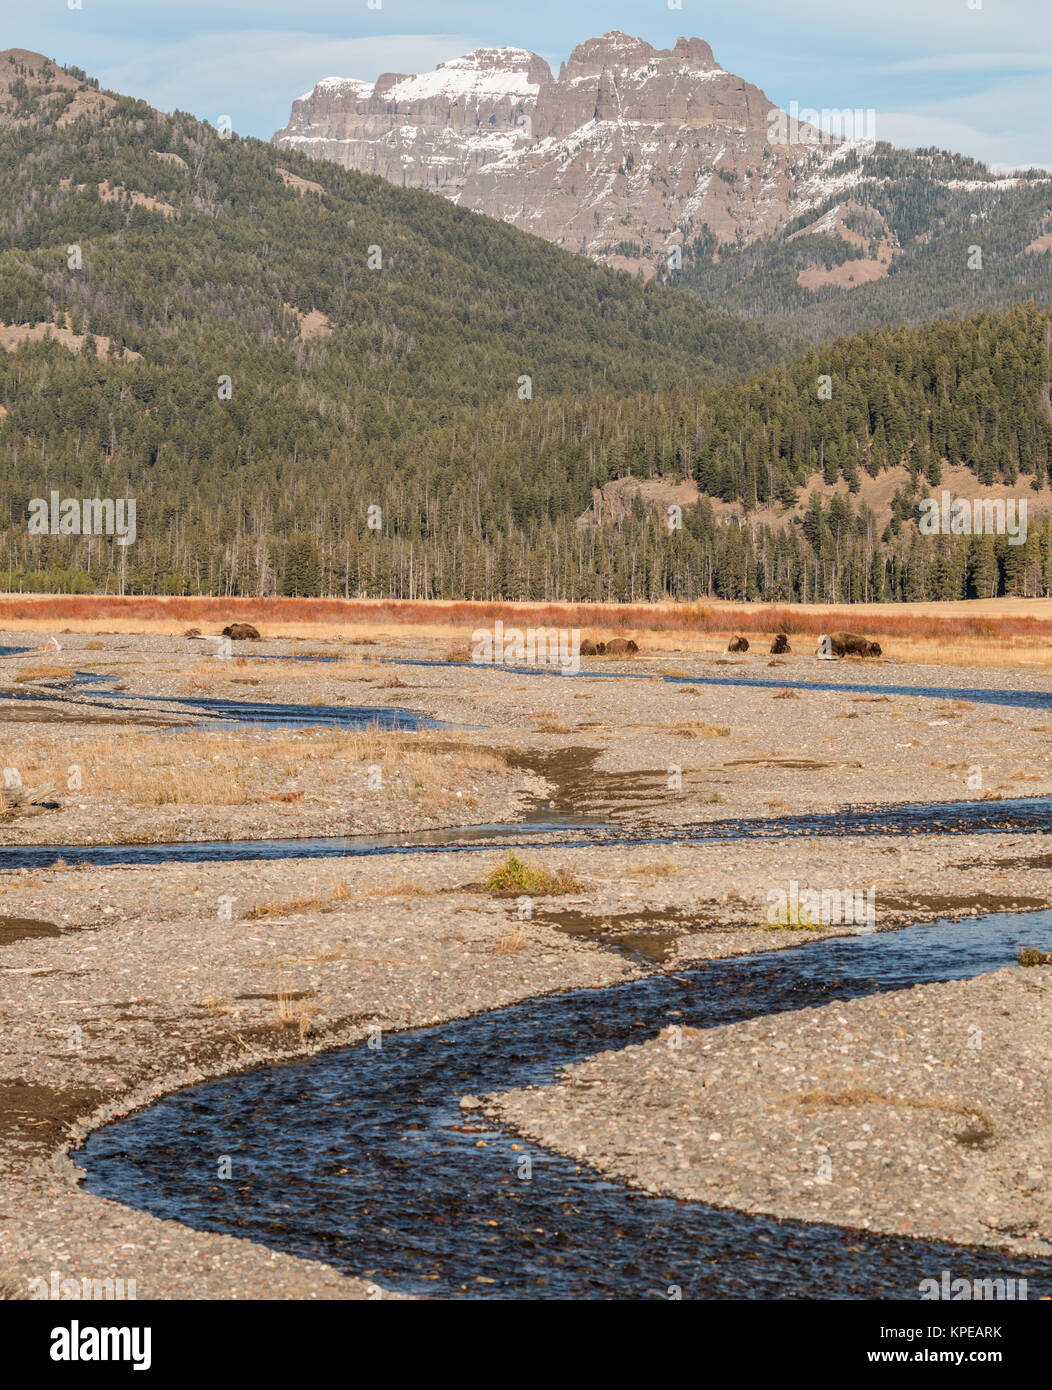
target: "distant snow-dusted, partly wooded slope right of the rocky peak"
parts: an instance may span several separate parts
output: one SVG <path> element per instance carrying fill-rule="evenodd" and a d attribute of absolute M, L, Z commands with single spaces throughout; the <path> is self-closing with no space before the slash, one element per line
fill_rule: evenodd
<path fill-rule="evenodd" d="M 1027 299 L 1052 303 L 1051 175 L 1034 170 L 1028 178 L 999 178 L 962 156 L 888 145 L 849 150 L 838 168 L 845 188 L 777 235 L 745 249 L 698 238 L 684 249 L 682 268 L 670 268 L 663 282 L 816 342 Z M 824 224 L 838 206 L 849 211 L 830 231 Z M 845 284 L 881 240 L 888 254 L 878 278 Z M 820 277 L 809 288 L 816 267 L 844 267 L 842 282 Z"/>

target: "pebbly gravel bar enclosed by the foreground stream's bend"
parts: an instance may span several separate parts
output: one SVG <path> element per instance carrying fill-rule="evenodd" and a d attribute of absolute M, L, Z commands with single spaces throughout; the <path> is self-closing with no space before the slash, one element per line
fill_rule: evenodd
<path fill-rule="evenodd" d="M 671 1026 L 488 1111 L 650 1193 L 1049 1255 L 1051 1022 L 1052 967 L 1013 966 Z"/>

